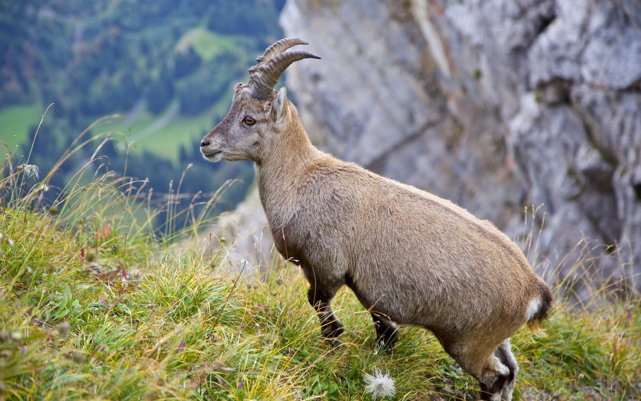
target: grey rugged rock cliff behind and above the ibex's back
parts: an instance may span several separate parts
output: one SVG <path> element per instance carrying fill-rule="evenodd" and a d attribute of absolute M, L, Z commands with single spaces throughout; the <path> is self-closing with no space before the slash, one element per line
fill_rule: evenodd
<path fill-rule="evenodd" d="M 641 272 L 641 3 L 288 0 L 281 25 L 322 56 L 286 82 L 313 143 L 510 236 L 540 206 L 570 285 Z"/>

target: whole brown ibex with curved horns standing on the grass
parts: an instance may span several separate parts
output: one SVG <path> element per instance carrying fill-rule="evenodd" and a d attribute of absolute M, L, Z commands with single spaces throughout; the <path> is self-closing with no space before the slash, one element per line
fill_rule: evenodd
<path fill-rule="evenodd" d="M 478 379 L 484 399 L 510 400 L 518 367 L 509 338 L 545 319 L 549 287 L 487 220 L 314 147 L 285 87 L 274 91 L 294 61 L 320 58 L 286 51 L 298 44 L 307 43 L 279 40 L 256 59 L 229 113 L 203 137 L 204 157 L 256 163 L 276 248 L 303 269 L 325 338 L 344 331 L 330 302 L 346 284 L 380 345 L 394 345 L 395 323 L 425 327 Z"/>

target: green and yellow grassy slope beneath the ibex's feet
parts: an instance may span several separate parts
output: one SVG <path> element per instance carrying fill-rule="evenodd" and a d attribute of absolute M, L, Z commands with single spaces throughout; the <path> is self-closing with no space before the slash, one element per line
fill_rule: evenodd
<path fill-rule="evenodd" d="M 237 282 L 193 229 L 153 238 L 151 220 L 131 218 L 153 212 L 108 180 L 71 186 L 55 216 L 24 198 L 0 211 L 0 399 L 367 400 L 363 374 L 375 369 L 395 379 L 394 400 L 476 399 L 476 382 L 428 332 L 404 328 L 394 354 L 378 354 L 369 313 L 342 290 L 347 332 L 329 348 L 294 266 Z M 517 400 L 641 397 L 637 302 L 559 304 L 544 332 L 512 342 Z"/>

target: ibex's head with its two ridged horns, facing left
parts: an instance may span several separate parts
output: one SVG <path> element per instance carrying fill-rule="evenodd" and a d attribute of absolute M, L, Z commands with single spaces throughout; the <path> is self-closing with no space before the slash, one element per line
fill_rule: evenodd
<path fill-rule="evenodd" d="M 294 61 L 320 58 L 306 51 L 286 51 L 299 44 L 308 43 L 299 38 L 281 39 L 256 58 L 258 63 L 249 69 L 249 81 L 234 88 L 231 109 L 225 118 L 203 136 L 201 152 L 207 160 L 260 163 L 278 143 L 294 106 L 289 104 L 285 87 L 277 93 L 274 86 Z"/>

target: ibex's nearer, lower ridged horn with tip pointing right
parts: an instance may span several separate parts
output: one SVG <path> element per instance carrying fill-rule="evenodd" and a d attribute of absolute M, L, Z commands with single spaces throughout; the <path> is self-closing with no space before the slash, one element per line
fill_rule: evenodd
<path fill-rule="evenodd" d="M 278 42 L 276 42 L 278 43 Z M 267 49 L 269 50 L 269 49 Z M 267 51 L 265 51 L 267 53 Z M 269 96 L 274 90 L 274 86 L 278 83 L 278 79 L 285 72 L 287 67 L 292 65 L 294 61 L 303 60 L 304 58 L 320 58 L 316 54 L 308 51 L 287 51 L 285 53 L 273 56 L 265 63 L 259 63 L 249 69 L 249 88 L 251 92 L 260 99 L 269 99 Z"/>

